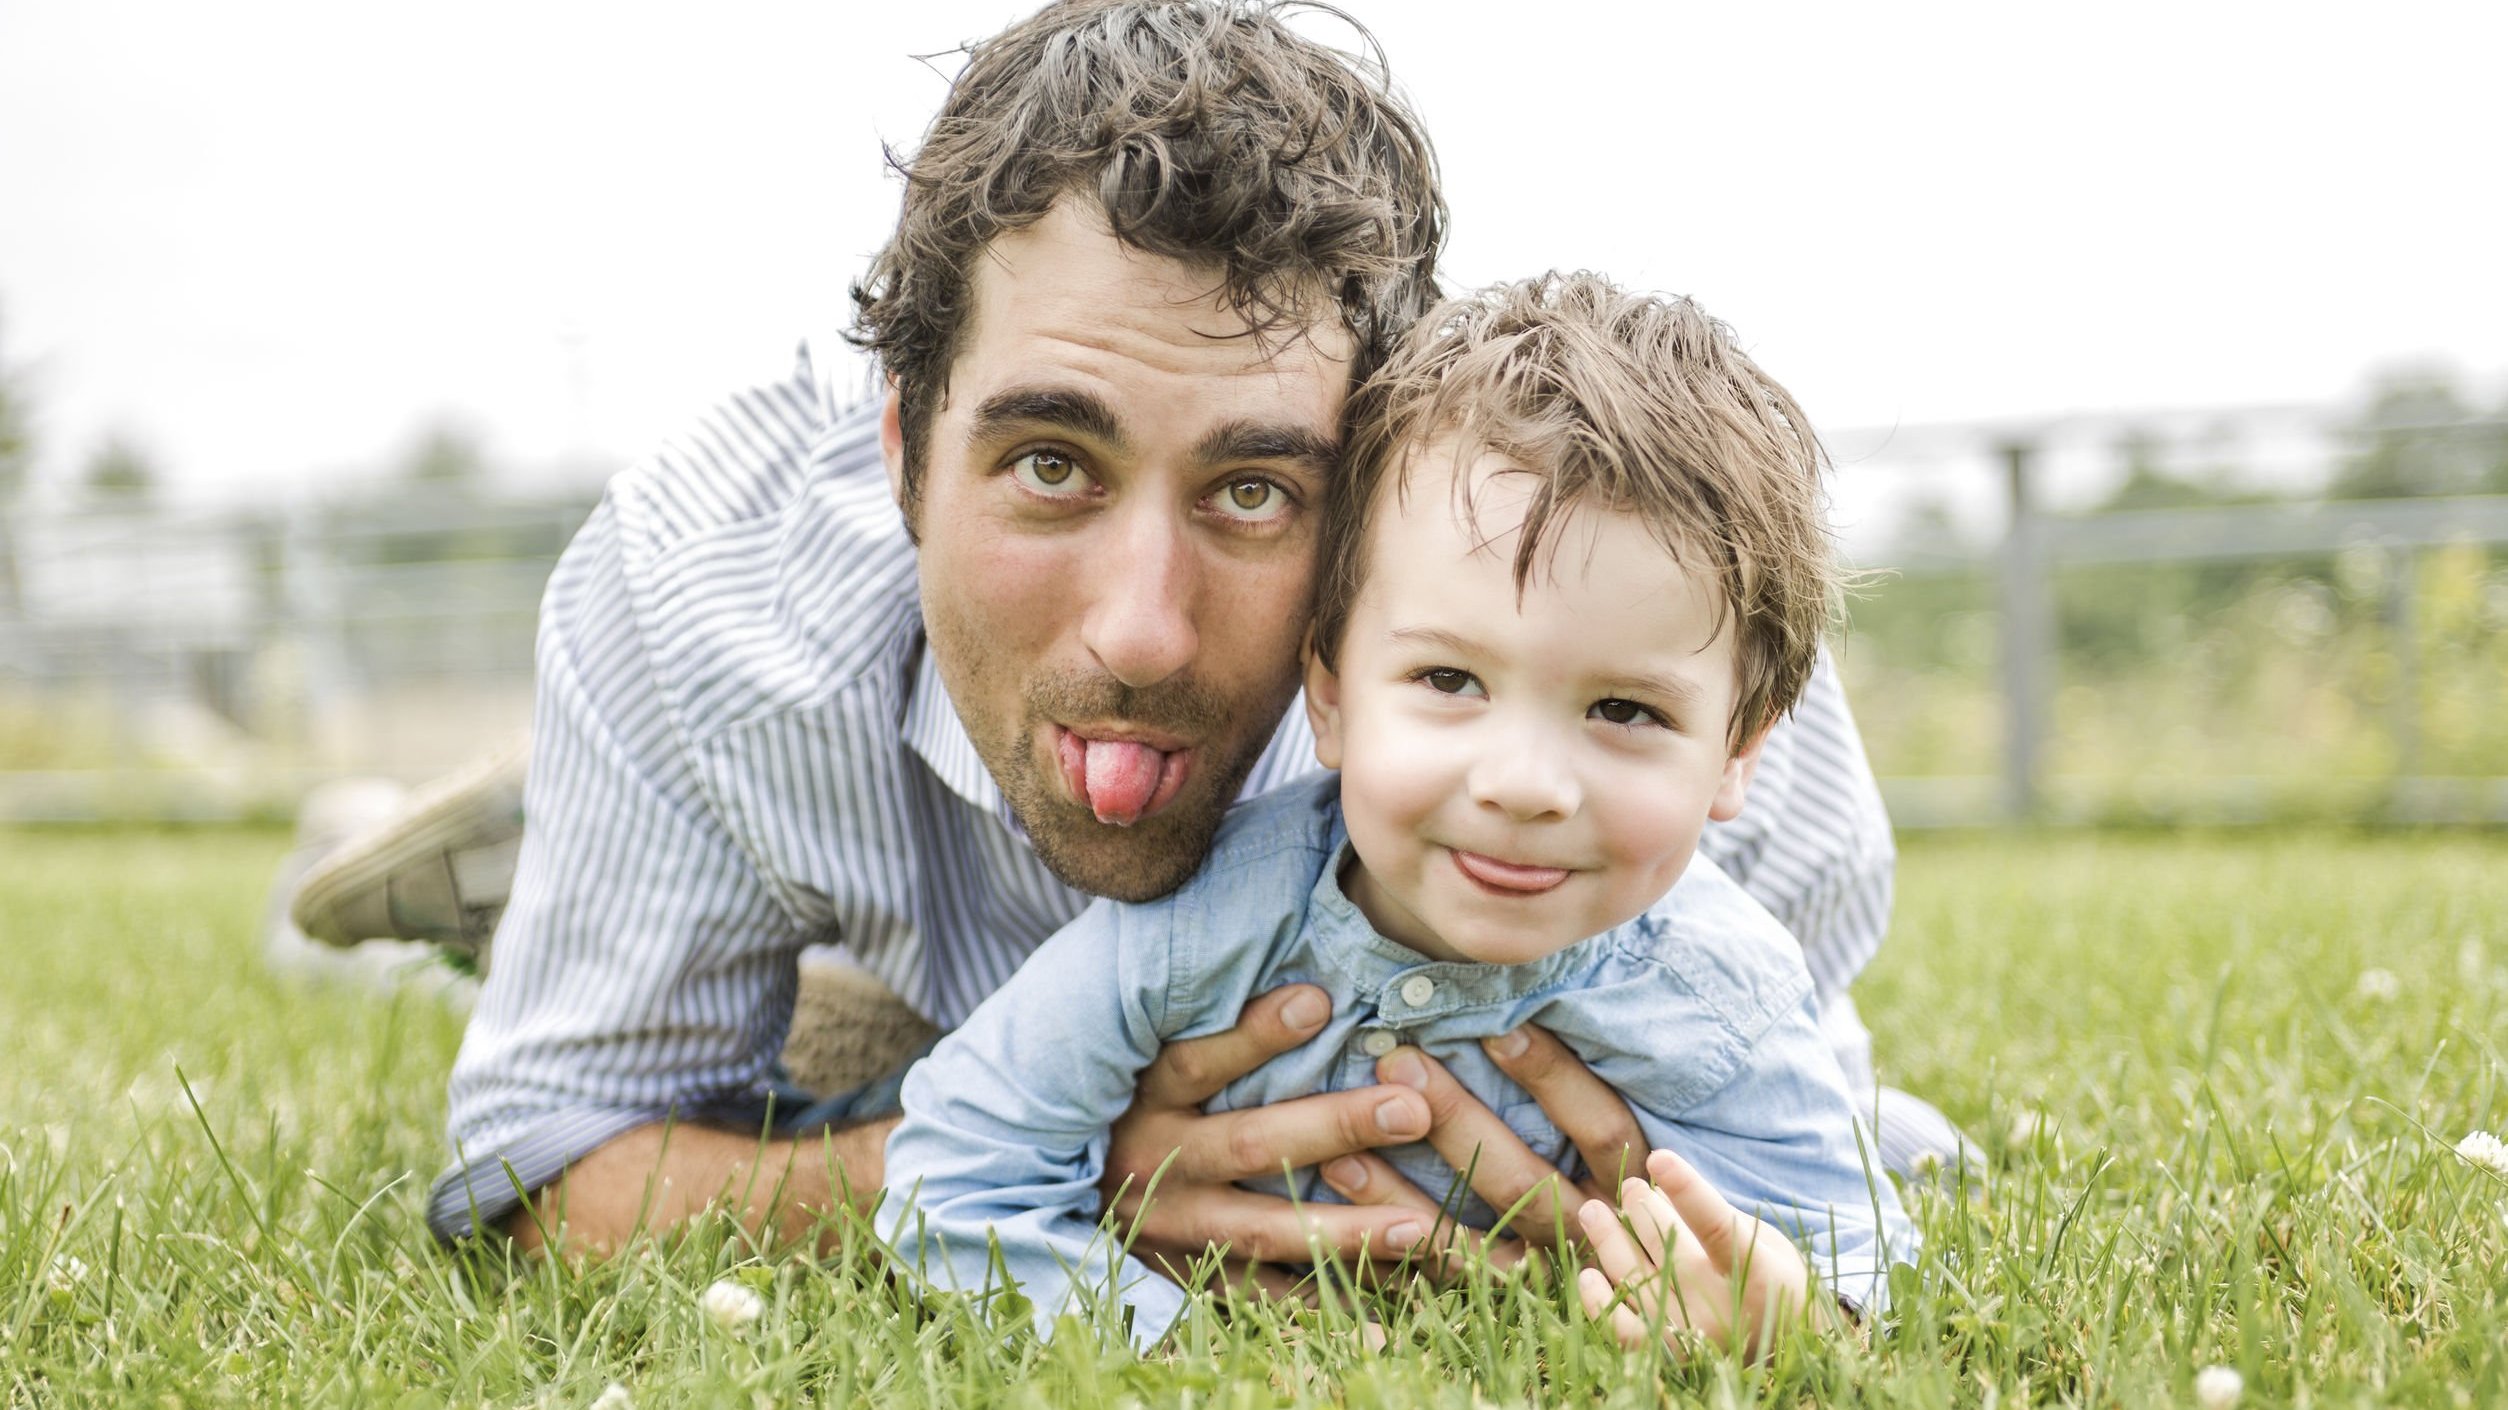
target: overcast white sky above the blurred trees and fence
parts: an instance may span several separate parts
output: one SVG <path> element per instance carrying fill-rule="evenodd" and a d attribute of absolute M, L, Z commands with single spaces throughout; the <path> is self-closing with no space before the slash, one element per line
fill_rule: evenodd
<path fill-rule="evenodd" d="M 0 356 L 43 474 L 630 457 L 833 329 L 1011 0 L 8 0 Z M 1452 281 L 1695 294 L 1826 427 L 2508 389 L 2508 5 L 1349 0 Z M 2322 20 L 2315 15 L 2335 13 Z"/>

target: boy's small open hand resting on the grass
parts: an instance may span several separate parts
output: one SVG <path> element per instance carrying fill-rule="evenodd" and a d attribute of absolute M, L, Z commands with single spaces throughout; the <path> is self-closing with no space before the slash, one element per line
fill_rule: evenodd
<path fill-rule="evenodd" d="M 1618 1214 L 1600 1199 L 1578 1209 L 1595 1267 L 1578 1270 L 1575 1287 L 1623 1347 L 1660 1335 L 1683 1352 L 1698 1337 L 1761 1357 L 1786 1330 L 1821 1320 L 1793 1239 L 1726 1204 L 1673 1152 L 1650 1154 L 1645 1174 L 1653 1184 L 1620 1184 Z"/>

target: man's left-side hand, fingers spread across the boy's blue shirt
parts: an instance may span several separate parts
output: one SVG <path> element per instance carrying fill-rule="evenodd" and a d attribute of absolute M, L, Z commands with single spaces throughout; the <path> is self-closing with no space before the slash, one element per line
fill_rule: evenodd
<path fill-rule="evenodd" d="M 1435 1227 L 1402 1202 L 1297 1207 L 1234 1182 L 1309 1167 L 1430 1134 L 1430 1099 L 1407 1086 L 1324 1091 L 1249 1111 L 1204 1114 L 1221 1086 L 1297 1049 L 1332 1019 L 1312 983 L 1246 1004 L 1236 1026 L 1169 1044 L 1141 1074 L 1131 1111 L 1106 1149 L 1106 1207 L 1124 1217 L 1134 1252 L 1179 1280 L 1209 1249 L 1226 1252 L 1231 1282 L 1284 1292 L 1277 1262 L 1339 1254 L 1344 1262 L 1402 1257 Z M 1374 1157 L 1367 1157 L 1374 1159 Z M 1382 1162 L 1377 1162 L 1382 1167 Z M 1392 1167 L 1384 1167 L 1392 1177 Z M 1156 1187 L 1151 1187 L 1156 1182 Z"/>

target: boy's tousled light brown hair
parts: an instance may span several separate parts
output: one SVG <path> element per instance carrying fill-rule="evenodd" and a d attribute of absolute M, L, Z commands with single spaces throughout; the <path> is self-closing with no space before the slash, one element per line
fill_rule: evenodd
<path fill-rule="evenodd" d="M 1452 439 L 1540 477 L 1515 544 L 1517 592 L 1565 514 L 1635 514 L 1720 590 L 1715 627 L 1736 627 L 1741 682 L 1728 743 L 1801 697 L 1838 597 L 1826 454 L 1793 396 L 1688 299 L 1625 294 L 1595 273 L 1450 299 L 1352 396 L 1347 424 L 1317 567 L 1327 667 L 1367 582 L 1369 512 L 1404 492 L 1409 457 Z"/>

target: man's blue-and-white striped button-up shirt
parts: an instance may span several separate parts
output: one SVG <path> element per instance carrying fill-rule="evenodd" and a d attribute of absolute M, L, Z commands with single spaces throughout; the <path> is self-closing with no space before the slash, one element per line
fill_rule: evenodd
<path fill-rule="evenodd" d="M 1292 708 L 1246 795 L 1312 768 Z M 567 547 L 524 815 L 451 1074 L 454 1164 L 429 1199 L 446 1239 L 635 1126 L 755 1126 L 808 946 L 951 1029 L 1088 901 L 958 723 L 878 406 L 848 406 L 808 346 L 619 474 Z M 1700 851 L 1843 994 L 1889 921 L 1891 835 L 1826 657 Z"/>

